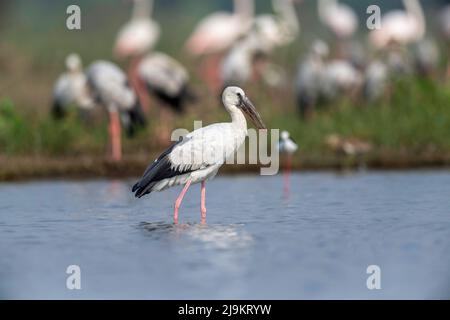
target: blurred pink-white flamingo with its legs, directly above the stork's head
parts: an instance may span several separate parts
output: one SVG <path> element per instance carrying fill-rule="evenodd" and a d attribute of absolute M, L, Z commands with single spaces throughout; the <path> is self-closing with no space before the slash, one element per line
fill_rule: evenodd
<path fill-rule="evenodd" d="M 186 41 L 186 50 L 201 57 L 202 76 L 210 89 L 220 87 L 218 66 L 223 52 L 228 50 L 251 28 L 254 0 L 234 0 L 234 12 L 215 12 L 202 19 Z"/>

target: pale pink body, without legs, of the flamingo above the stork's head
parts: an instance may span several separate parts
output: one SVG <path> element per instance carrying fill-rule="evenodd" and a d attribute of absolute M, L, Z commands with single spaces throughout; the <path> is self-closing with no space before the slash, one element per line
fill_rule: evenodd
<path fill-rule="evenodd" d="M 195 56 L 225 51 L 249 30 L 253 12 L 254 0 L 234 0 L 234 13 L 215 12 L 197 24 L 186 49 Z"/>

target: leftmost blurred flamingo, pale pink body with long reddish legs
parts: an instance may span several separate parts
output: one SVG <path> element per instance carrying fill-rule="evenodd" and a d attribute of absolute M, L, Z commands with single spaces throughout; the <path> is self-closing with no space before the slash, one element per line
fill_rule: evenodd
<path fill-rule="evenodd" d="M 147 111 L 149 101 L 145 94 L 145 87 L 138 77 L 137 69 L 143 55 L 156 45 L 161 31 L 159 24 L 151 18 L 153 0 L 133 0 L 133 3 L 131 20 L 119 30 L 114 52 L 119 58 L 131 57 L 128 77 L 138 94 L 142 107 Z"/>

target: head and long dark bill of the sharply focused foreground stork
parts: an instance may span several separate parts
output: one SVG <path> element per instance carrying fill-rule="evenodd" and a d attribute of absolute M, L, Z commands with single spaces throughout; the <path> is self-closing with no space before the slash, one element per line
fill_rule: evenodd
<path fill-rule="evenodd" d="M 255 106 L 239 87 L 227 87 L 222 94 L 222 101 L 229 112 L 237 108 L 246 114 L 258 129 L 267 129 Z"/>

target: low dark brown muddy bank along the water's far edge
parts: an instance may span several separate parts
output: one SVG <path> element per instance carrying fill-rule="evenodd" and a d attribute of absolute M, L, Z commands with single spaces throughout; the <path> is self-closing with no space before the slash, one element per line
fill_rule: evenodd
<path fill-rule="evenodd" d="M 140 176 L 157 154 L 126 156 L 114 163 L 101 156 L 79 157 L 0 157 L 0 181 L 32 179 L 93 179 L 127 178 Z M 282 159 L 281 159 L 282 162 Z M 293 162 L 294 170 L 344 170 L 344 169 L 421 169 L 450 168 L 450 156 L 405 153 L 379 153 L 364 158 L 336 154 L 302 155 Z M 221 173 L 257 173 L 257 165 L 225 165 Z"/>

